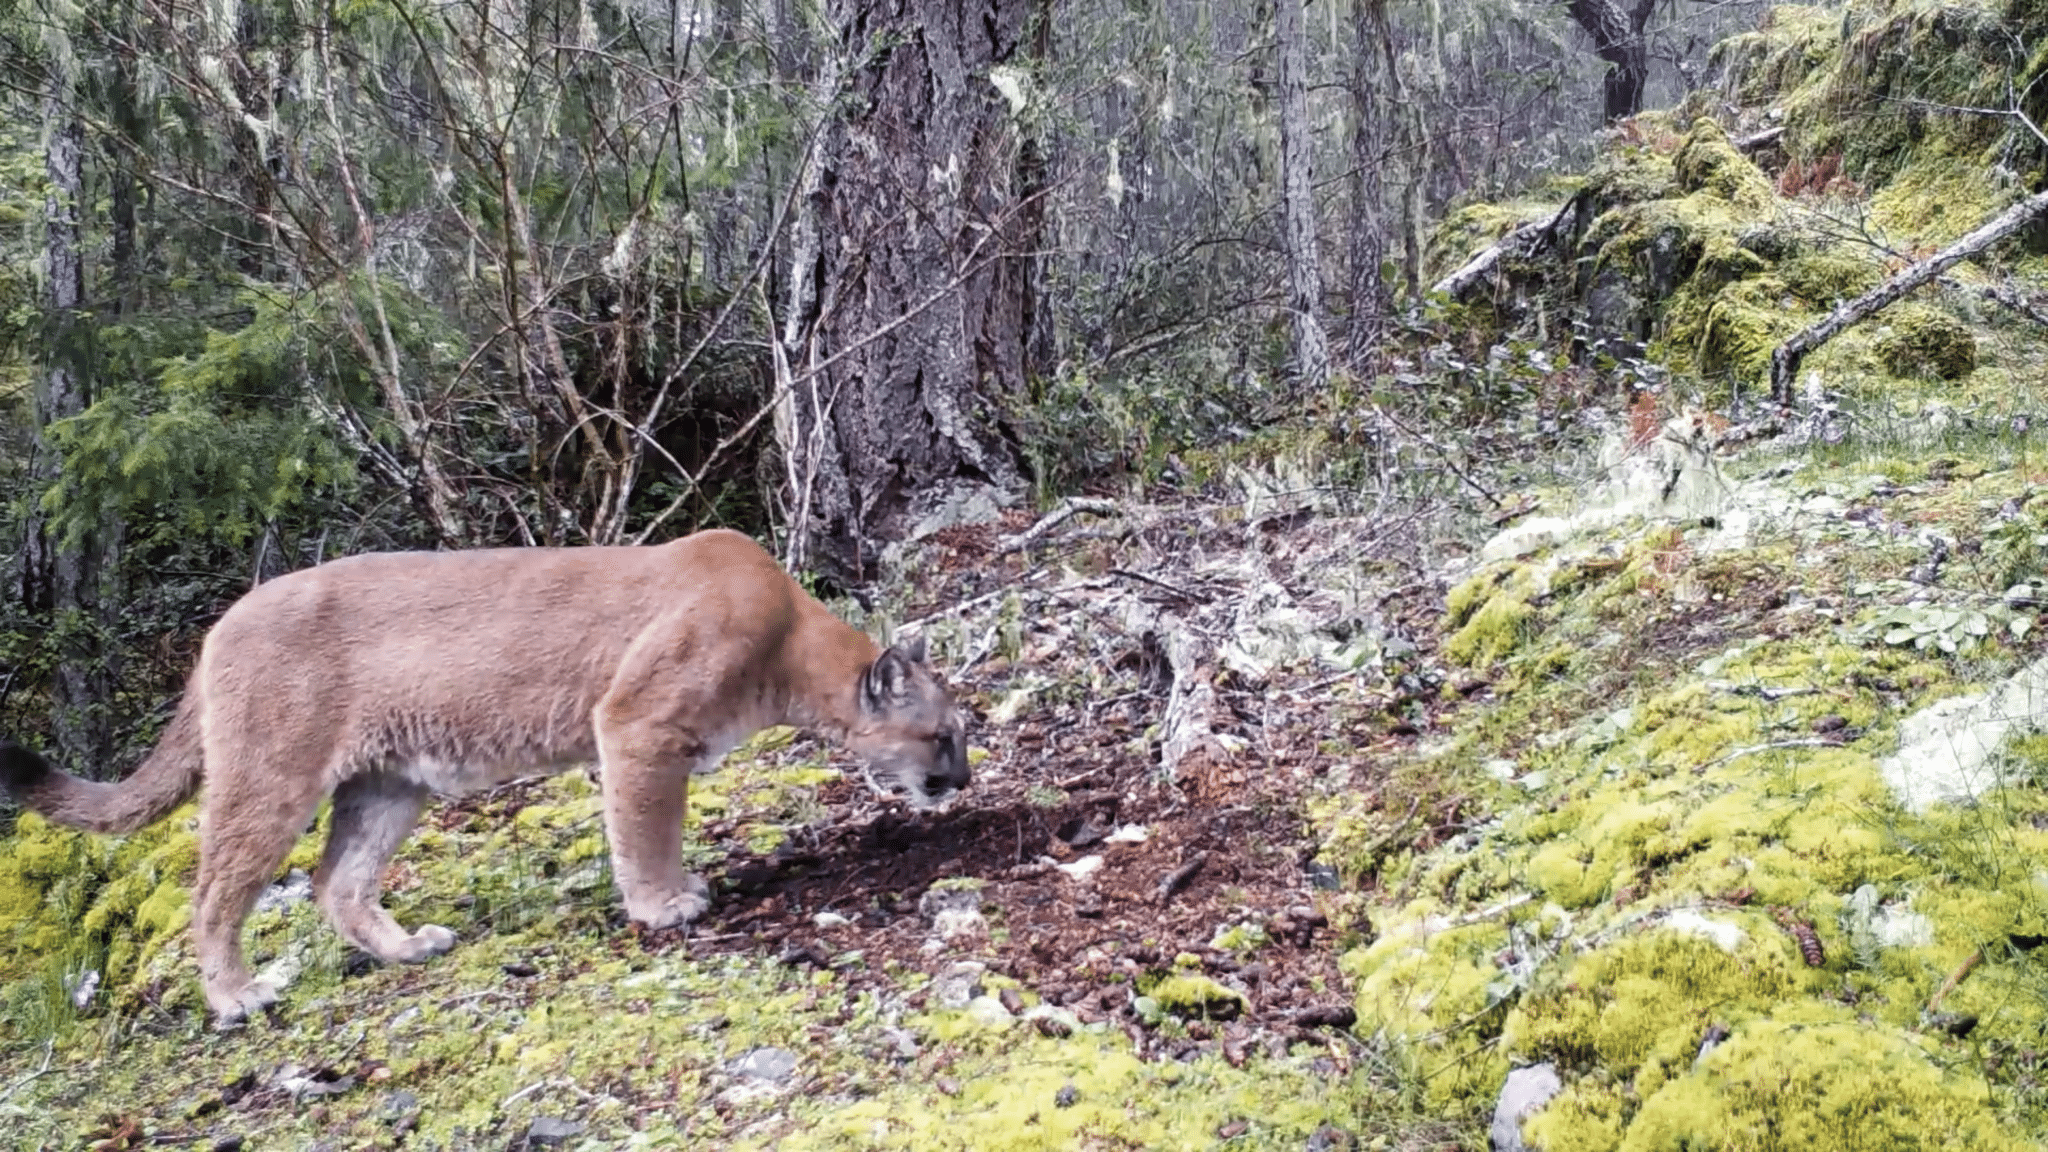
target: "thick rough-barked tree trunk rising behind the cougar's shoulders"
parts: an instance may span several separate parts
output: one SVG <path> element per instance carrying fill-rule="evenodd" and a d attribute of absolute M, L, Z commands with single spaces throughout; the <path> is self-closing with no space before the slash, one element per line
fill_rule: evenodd
<path fill-rule="evenodd" d="M 793 236 L 780 430 L 788 560 L 858 582 L 870 543 L 934 500 L 1022 480 L 999 412 L 1032 367 L 1036 221 L 1022 133 L 989 74 L 1032 64 L 1047 12 L 1042 0 L 827 8 L 848 96 L 819 146 L 811 228 Z"/>

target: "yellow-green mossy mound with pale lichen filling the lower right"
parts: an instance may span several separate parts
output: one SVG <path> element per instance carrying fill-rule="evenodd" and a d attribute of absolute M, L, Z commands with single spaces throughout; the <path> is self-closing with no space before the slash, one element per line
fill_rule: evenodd
<path fill-rule="evenodd" d="M 1483 1113 L 1511 1066 L 1550 1062 L 1567 1088 L 1526 1125 L 1546 1152 L 2038 1146 L 2048 1099 L 2009 1062 L 2048 1035 L 2048 795 L 2030 783 L 2048 738 L 2007 740 L 2003 785 L 1972 804 L 1907 810 L 1888 783 L 1901 717 L 2038 652 L 2028 629 L 1968 625 L 1993 609 L 1872 580 L 1901 560 L 1847 517 L 1878 500 L 1878 519 L 1968 535 L 2034 492 L 2023 467 L 1942 478 L 1741 486 L 1735 547 L 1647 523 L 1452 588 L 1452 637 L 1497 601 L 1530 609 L 1505 666 L 1577 654 L 1497 681 L 1511 695 L 1415 767 L 1473 787 L 1485 765 L 1491 822 L 1346 867 L 1378 894 L 1378 939 L 1346 959 L 1360 1031 L 1425 1076 L 1430 1107 Z M 1788 607 L 1747 615 L 1769 584 Z M 1970 648 L 1913 644 L 1907 619 Z"/>

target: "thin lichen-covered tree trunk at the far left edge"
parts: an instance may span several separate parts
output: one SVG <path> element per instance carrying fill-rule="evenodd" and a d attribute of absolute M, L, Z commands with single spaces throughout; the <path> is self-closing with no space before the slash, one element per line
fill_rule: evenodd
<path fill-rule="evenodd" d="M 86 266 L 80 240 L 84 195 L 84 125 L 72 107 L 68 61 L 53 53 L 49 92 L 43 100 L 47 150 L 43 170 L 49 193 L 43 203 L 43 256 L 49 264 L 43 375 L 37 381 L 37 490 L 59 480 L 57 445 L 49 426 L 78 416 L 92 404 L 90 322 L 84 312 Z M 35 504 L 31 504 L 35 506 Z M 51 613 L 57 668 L 51 683 L 51 728 L 57 754 L 74 773 L 106 777 L 113 771 L 113 726 L 106 703 L 113 695 L 113 654 L 100 644 L 102 586 L 115 570 L 119 525 L 96 525 L 82 539 L 68 541 L 31 512 L 23 549 L 23 590 L 33 607 Z"/>

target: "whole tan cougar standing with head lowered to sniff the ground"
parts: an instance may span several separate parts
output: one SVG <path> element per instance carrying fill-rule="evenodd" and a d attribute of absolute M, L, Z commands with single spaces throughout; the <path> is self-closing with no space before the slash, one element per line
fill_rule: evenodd
<path fill-rule="evenodd" d="M 848 744 L 915 804 L 967 785 L 961 717 L 924 644 L 877 650 L 729 531 L 354 556 L 283 576 L 213 627 L 176 719 L 127 781 L 78 781 L 0 744 L 0 783 L 51 820 L 131 830 L 205 779 L 193 931 L 225 1023 L 276 998 L 244 963 L 242 922 L 322 797 L 334 814 L 315 894 L 383 961 L 455 943 L 379 904 L 428 795 L 592 758 L 627 914 L 672 927 L 709 904 L 682 869 L 690 773 L 774 724 Z"/>

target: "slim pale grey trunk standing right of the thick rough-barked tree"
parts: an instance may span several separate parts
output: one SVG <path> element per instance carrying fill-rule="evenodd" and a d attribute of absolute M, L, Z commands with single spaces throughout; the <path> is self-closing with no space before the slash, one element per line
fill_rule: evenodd
<path fill-rule="evenodd" d="M 1319 394 L 1329 383 L 1323 340 L 1323 264 L 1315 242 L 1315 137 L 1309 133 L 1307 33 L 1303 0 L 1274 4 L 1280 41 L 1280 201 L 1286 215 L 1288 314 L 1294 320 L 1296 383 Z"/>

